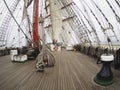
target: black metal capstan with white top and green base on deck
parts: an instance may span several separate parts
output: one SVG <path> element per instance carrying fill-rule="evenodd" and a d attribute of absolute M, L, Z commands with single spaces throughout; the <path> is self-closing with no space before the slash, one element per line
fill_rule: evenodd
<path fill-rule="evenodd" d="M 114 56 L 112 54 L 102 54 L 101 60 L 97 63 L 102 63 L 103 66 L 100 72 L 94 78 L 94 81 L 100 85 L 110 85 L 113 83 L 113 73 L 110 67 L 110 64 L 113 62 Z"/>

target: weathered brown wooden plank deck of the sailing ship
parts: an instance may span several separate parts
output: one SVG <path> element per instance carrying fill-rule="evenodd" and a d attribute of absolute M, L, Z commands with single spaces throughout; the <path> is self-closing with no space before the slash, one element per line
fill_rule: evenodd
<path fill-rule="evenodd" d="M 36 61 L 13 63 L 0 57 L 0 90 L 120 90 L 120 71 L 113 69 L 114 83 L 100 86 L 93 78 L 101 65 L 88 56 L 72 51 L 54 53 L 56 65 L 36 72 Z"/>

